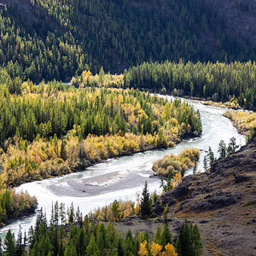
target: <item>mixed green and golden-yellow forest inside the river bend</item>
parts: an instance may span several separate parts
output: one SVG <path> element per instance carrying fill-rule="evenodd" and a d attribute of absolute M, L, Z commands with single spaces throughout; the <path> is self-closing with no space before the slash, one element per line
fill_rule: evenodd
<path fill-rule="evenodd" d="M 199 113 L 179 99 L 167 102 L 133 89 L 77 89 L 55 81 L 38 86 L 27 81 L 14 94 L 15 81 L 0 91 L 2 188 L 172 147 L 201 134 Z"/>

